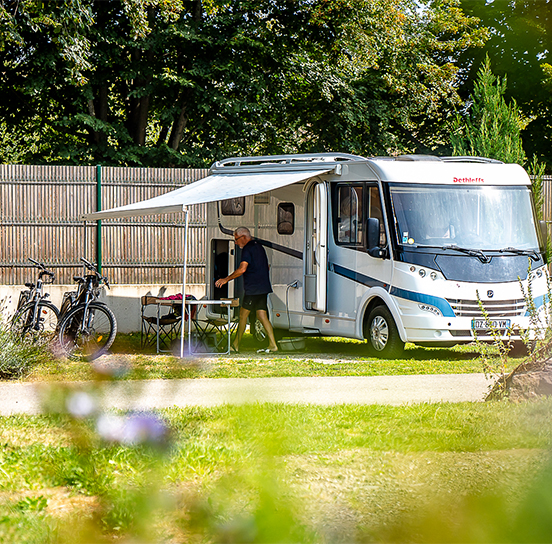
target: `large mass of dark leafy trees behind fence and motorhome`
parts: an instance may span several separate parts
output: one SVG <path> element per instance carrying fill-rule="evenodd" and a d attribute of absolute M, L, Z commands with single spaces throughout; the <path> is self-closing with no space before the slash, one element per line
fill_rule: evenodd
<path fill-rule="evenodd" d="M 204 166 L 234 154 L 443 143 L 459 0 L 36 0 L 0 5 L 8 160 Z"/>

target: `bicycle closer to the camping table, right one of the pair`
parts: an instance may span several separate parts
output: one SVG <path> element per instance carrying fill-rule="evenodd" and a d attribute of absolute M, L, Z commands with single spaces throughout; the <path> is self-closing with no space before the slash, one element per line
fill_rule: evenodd
<path fill-rule="evenodd" d="M 106 353 L 115 341 L 117 321 L 107 304 L 98 300 L 101 286 L 109 289 L 107 278 L 91 262 L 82 257 L 81 261 L 91 273 L 74 276 L 77 291 L 64 294 L 58 341 L 68 357 L 93 360 Z"/>

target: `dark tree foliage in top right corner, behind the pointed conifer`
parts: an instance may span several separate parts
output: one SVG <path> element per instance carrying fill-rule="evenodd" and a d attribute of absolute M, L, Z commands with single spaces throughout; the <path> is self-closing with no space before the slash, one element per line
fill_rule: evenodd
<path fill-rule="evenodd" d="M 547 76 L 552 55 L 552 12 L 549 0 L 462 0 L 462 9 L 489 29 L 482 48 L 470 47 L 460 56 L 460 94 L 471 94 L 485 57 L 495 73 L 508 75 L 505 98 L 515 99 L 524 117 L 532 119 L 523 131 L 527 155 L 537 156 L 550 169 L 552 94 Z"/>

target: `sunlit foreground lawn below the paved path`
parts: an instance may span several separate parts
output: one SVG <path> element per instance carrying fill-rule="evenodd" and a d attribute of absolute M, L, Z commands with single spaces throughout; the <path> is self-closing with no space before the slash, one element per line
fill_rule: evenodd
<path fill-rule="evenodd" d="M 516 542 L 549 530 L 551 400 L 158 415 L 170 438 L 142 446 L 102 441 L 99 414 L 1 418 L 0 542 Z"/>

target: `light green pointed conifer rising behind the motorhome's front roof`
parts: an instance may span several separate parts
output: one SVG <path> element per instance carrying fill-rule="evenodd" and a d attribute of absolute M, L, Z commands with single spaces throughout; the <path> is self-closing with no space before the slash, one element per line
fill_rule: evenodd
<path fill-rule="evenodd" d="M 451 137 L 455 155 L 472 155 L 523 165 L 521 131 L 527 126 L 515 100 L 504 99 L 506 78 L 497 78 L 489 57 L 482 64 L 474 84 L 465 119 L 457 118 Z"/>

